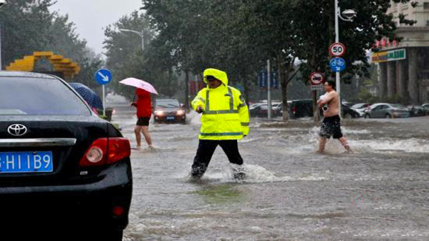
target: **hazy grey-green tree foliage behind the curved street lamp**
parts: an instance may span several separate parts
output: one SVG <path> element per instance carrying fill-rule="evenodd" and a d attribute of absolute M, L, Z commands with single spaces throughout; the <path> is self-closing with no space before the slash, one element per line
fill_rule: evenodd
<path fill-rule="evenodd" d="M 119 29 L 143 31 L 144 49 L 139 35 Z M 128 77 L 150 82 L 161 96 L 172 97 L 178 91 L 177 75 L 172 70 L 174 64 L 170 63 L 172 58 L 163 44 L 152 42 L 154 35 L 146 15 L 137 11 L 106 27 L 106 64 L 115 76 L 112 87 L 117 93 L 133 98 L 135 88 L 119 84 L 120 80 Z"/>

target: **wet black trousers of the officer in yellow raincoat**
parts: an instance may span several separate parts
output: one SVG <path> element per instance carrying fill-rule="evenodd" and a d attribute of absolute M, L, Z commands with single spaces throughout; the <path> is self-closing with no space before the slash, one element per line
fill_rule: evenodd
<path fill-rule="evenodd" d="M 237 140 L 201 140 L 198 144 L 197 154 L 192 164 L 191 175 L 201 177 L 206 172 L 217 145 L 222 147 L 230 163 L 241 165 L 243 158 L 238 152 Z"/>

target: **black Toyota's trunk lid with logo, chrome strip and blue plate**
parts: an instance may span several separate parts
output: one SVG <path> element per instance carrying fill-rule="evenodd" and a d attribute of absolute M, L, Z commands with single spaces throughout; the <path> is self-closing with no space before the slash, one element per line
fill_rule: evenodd
<path fill-rule="evenodd" d="M 12 135 L 8 127 L 14 124 L 24 125 L 27 132 Z M 102 167 L 83 169 L 79 160 L 95 139 L 108 136 L 108 128 L 108 122 L 94 116 L 2 116 L 0 185 L 94 181 Z"/>

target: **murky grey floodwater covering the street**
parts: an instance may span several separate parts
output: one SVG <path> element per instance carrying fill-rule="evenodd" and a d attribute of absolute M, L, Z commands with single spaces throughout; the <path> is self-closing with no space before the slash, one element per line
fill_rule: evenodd
<path fill-rule="evenodd" d="M 110 105 L 135 145 L 134 110 L 121 100 Z M 353 152 L 332 140 L 323 155 L 311 120 L 251 119 L 239 141 L 244 181 L 231 178 L 220 147 L 202 180 L 189 179 L 199 115 L 187 122 L 151 120 L 156 148 L 132 151 L 124 240 L 429 240 L 429 117 L 345 120 Z"/>

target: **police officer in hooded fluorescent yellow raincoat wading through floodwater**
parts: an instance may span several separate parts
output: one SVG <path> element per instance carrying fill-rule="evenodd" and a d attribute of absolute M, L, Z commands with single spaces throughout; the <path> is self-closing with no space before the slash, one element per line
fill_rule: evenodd
<path fill-rule="evenodd" d="M 245 177 L 243 159 L 238 151 L 237 140 L 249 132 L 249 113 L 240 91 L 228 86 L 226 73 L 217 69 L 204 71 L 202 89 L 192 101 L 192 108 L 202 113 L 200 142 L 192 164 L 191 176 L 200 178 L 206 172 L 217 145 L 222 147 L 233 168 L 234 178 Z"/>

